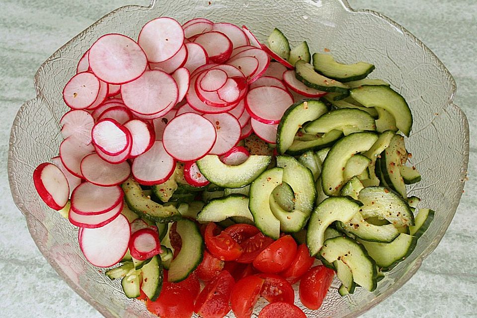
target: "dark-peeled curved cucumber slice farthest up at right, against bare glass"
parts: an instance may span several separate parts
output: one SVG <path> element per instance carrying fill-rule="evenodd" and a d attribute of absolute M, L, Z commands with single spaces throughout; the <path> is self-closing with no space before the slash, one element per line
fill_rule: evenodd
<path fill-rule="evenodd" d="M 366 78 L 374 70 L 374 65 L 366 62 L 343 64 L 335 61 L 329 54 L 313 54 L 315 70 L 330 79 L 348 82 Z"/>

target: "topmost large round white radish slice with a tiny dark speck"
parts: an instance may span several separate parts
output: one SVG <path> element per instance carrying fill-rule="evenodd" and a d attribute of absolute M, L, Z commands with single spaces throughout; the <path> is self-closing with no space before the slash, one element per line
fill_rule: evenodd
<path fill-rule="evenodd" d="M 164 62 L 179 52 L 184 44 L 184 30 L 176 20 L 159 17 L 143 26 L 138 44 L 146 52 L 149 62 Z"/>

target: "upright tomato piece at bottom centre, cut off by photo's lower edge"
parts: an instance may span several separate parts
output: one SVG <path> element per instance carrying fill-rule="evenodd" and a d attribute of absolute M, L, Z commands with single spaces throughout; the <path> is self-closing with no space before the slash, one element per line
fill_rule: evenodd
<path fill-rule="evenodd" d="M 232 289 L 230 305 L 237 318 L 250 318 L 264 280 L 258 276 L 240 279 Z"/>

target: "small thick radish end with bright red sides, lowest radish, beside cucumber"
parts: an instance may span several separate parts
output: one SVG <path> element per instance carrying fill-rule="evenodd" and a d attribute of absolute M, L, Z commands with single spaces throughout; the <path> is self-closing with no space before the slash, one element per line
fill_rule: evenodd
<path fill-rule="evenodd" d="M 160 253 L 159 233 L 151 229 L 136 231 L 129 240 L 129 252 L 138 260 L 146 260 Z"/>

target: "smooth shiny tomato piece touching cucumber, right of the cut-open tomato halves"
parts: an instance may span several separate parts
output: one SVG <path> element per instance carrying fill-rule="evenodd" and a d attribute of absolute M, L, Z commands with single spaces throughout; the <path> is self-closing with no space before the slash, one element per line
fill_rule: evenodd
<path fill-rule="evenodd" d="M 290 266 L 296 253 L 295 239 L 286 235 L 262 250 L 253 260 L 253 267 L 263 273 L 279 273 Z"/>

